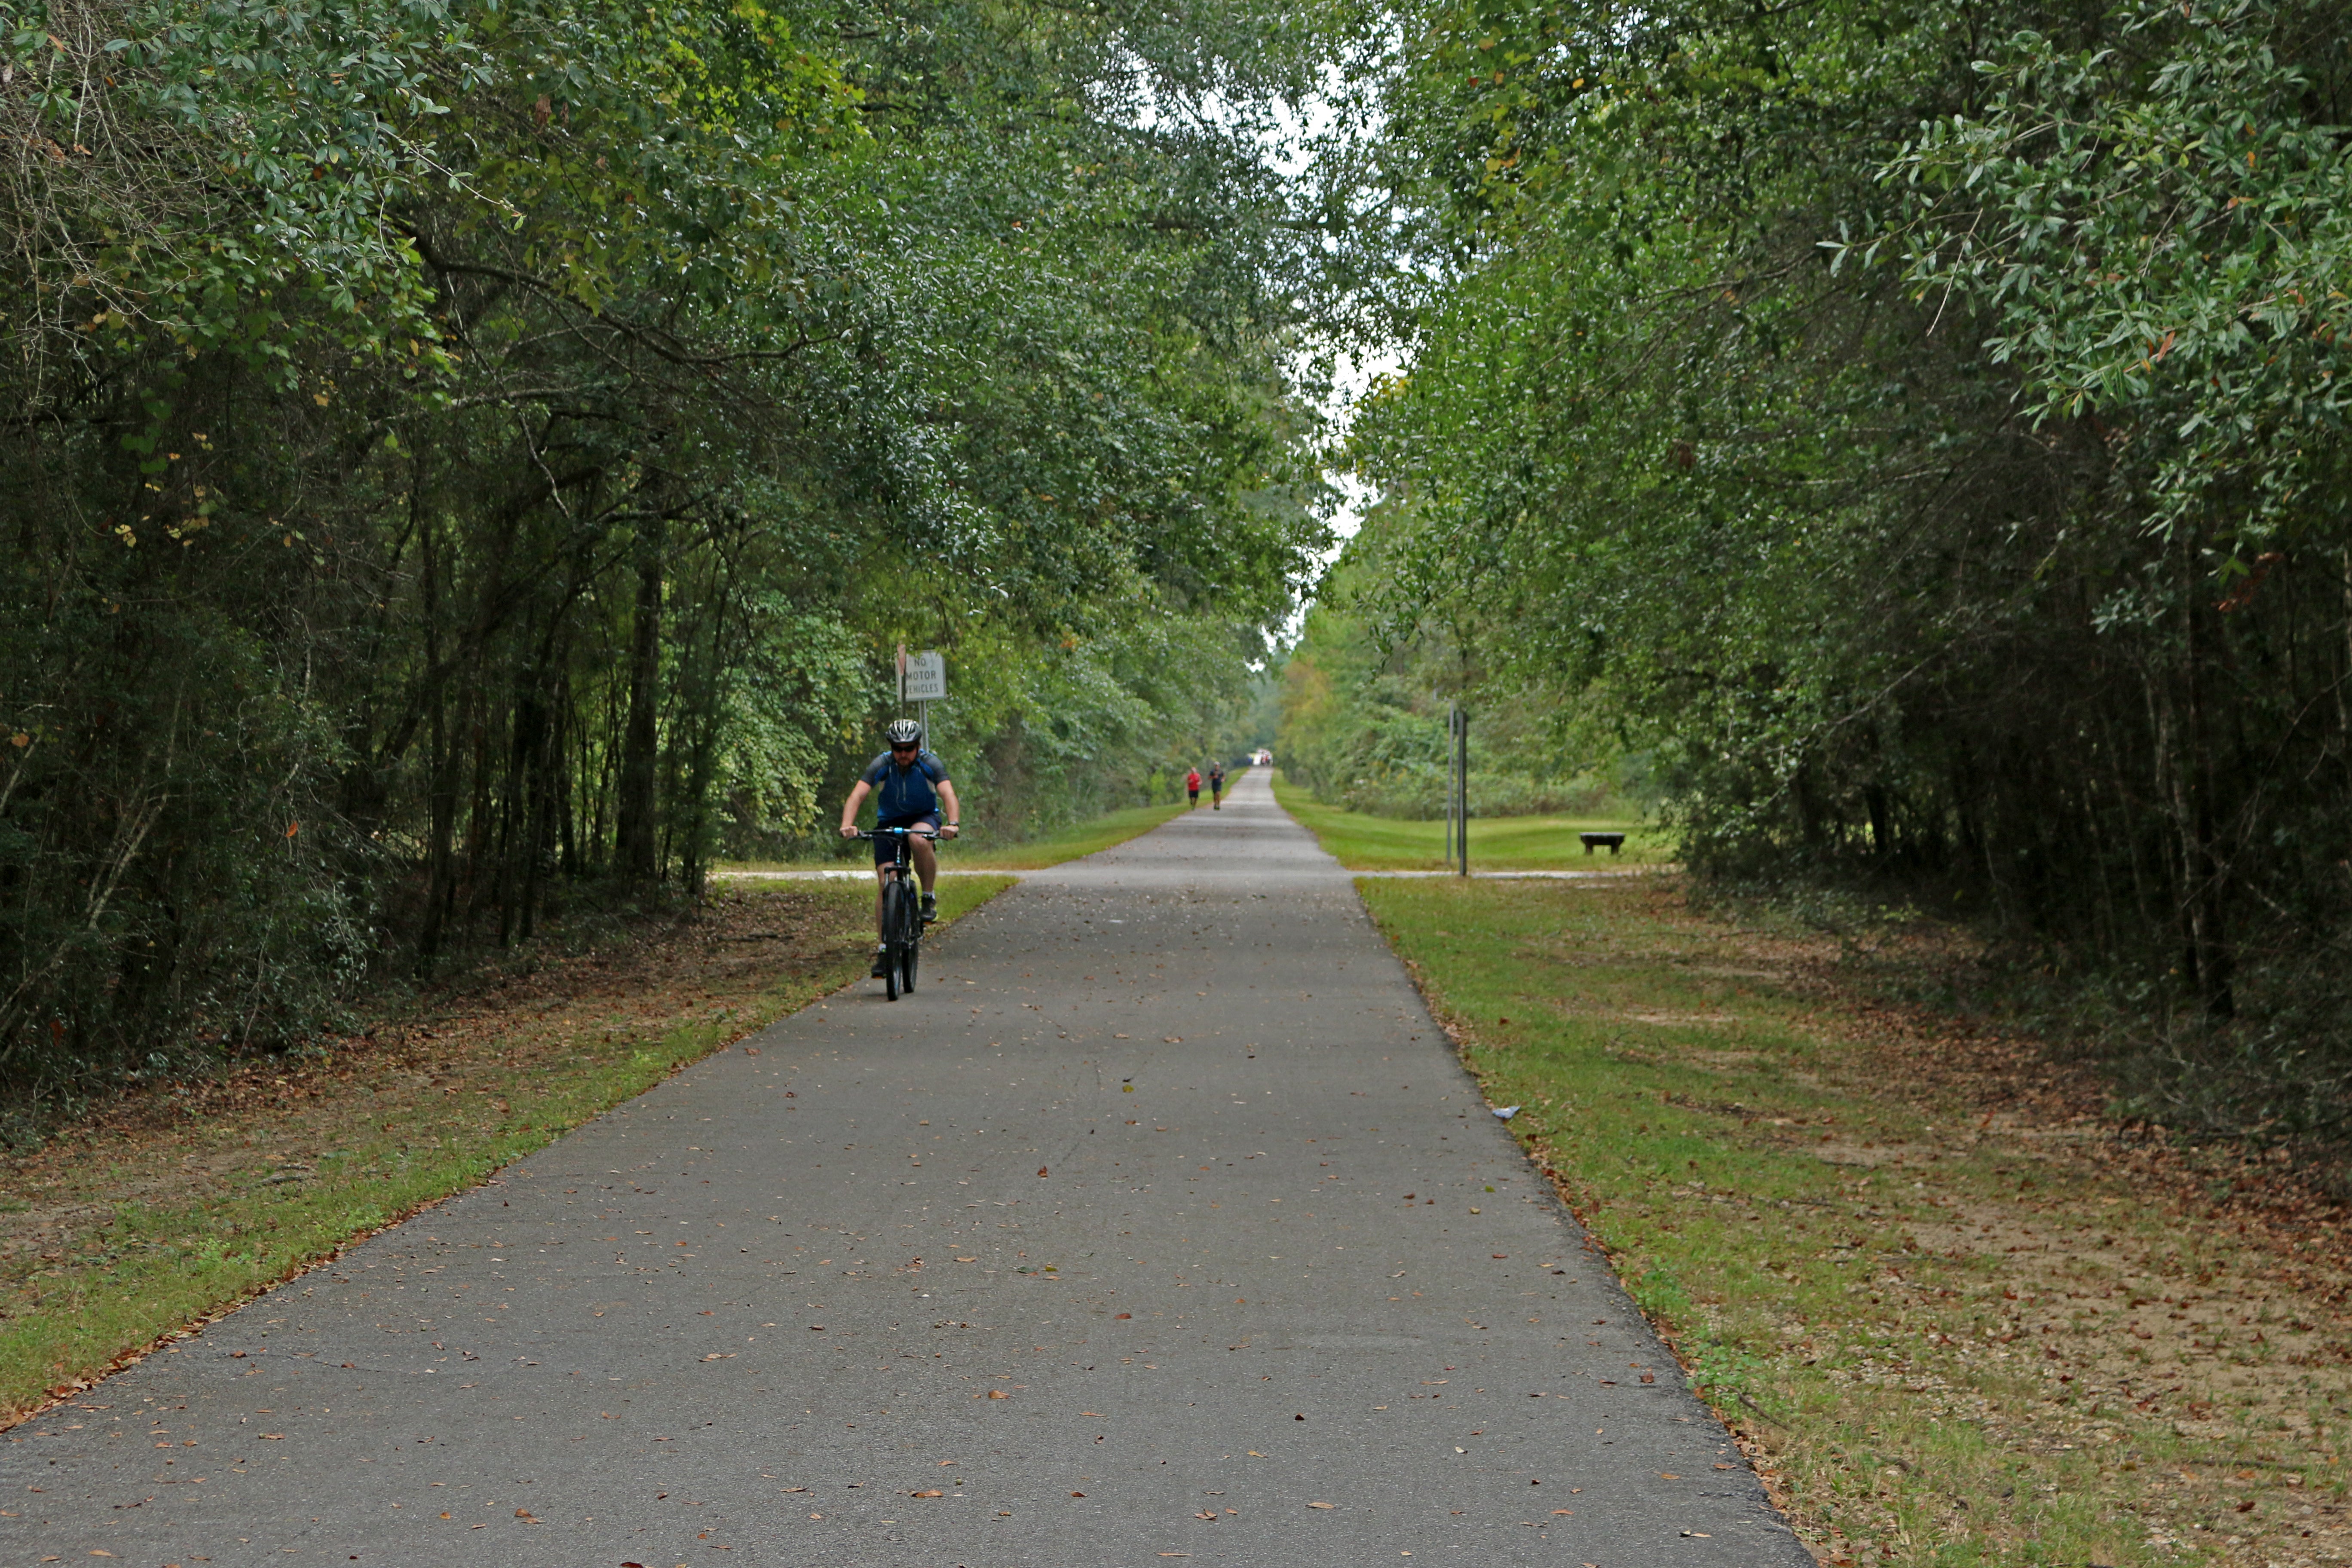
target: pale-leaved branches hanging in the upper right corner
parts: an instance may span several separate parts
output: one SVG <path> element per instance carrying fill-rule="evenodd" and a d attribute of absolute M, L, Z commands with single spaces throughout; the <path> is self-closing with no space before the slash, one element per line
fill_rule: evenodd
<path fill-rule="evenodd" d="M 1889 167 L 1907 284 L 1990 313 L 2032 418 L 2129 421 L 2147 522 L 2218 517 L 2223 583 L 2305 543 L 2312 487 L 2340 477 L 2352 160 L 2312 113 L 2338 21 L 2131 5 L 2096 47 L 2025 31 L 1978 66 L 1985 106 Z"/>

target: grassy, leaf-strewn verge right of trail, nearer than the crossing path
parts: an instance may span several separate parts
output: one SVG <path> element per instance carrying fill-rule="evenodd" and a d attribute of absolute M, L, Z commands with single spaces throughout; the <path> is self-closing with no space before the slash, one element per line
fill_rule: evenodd
<path fill-rule="evenodd" d="M 2340 1246 L 2234 1234 L 2164 1147 L 2023 1114 L 2039 1046 L 1677 879 L 1357 886 L 1825 1563 L 2352 1549 Z"/>

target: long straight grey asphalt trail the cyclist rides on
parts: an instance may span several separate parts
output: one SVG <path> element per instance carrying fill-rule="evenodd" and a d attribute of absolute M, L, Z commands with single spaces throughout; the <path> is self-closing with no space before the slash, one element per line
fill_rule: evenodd
<path fill-rule="evenodd" d="M 1263 773 L 19 1427 L 0 1497 L 0 1561 L 141 1568 L 1811 1561 Z"/>

